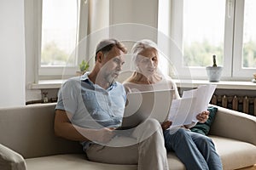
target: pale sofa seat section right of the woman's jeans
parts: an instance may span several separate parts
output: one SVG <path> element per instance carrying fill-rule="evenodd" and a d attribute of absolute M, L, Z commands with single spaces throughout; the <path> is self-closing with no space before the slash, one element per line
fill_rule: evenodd
<path fill-rule="evenodd" d="M 224 169 L 249 167 L 256 163 L 256 146 L 236 139 L 210 136 L 221 157 Z"/>

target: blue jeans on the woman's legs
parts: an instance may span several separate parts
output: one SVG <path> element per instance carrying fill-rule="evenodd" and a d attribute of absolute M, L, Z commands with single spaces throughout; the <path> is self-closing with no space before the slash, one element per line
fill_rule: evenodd
<path fill-rule="evenodd" d="M 223 169 L 212 139 L 207 136 L 179 127 L 165 130 L 164 137 L 166 150 L 174 151 L 186 169 Z"/>

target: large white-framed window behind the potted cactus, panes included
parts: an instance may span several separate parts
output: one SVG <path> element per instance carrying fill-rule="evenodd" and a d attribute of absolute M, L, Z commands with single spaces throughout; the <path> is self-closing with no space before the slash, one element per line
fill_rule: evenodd
<path fill-rule="evenodd" d="M 222 80 L 251 80 L 256 72 L 255 0 L 172 0 L 171 6 L 170 36 L 182 49 L 171 55 L 178 77 L 206 79 L 205 67 L 215 54 L 217 65 L 224 67 Z"/>

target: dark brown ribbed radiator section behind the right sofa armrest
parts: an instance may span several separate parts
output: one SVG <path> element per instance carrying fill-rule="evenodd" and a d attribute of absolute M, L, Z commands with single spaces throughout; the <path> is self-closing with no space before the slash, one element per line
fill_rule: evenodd
<path fill-rule="evenodd" d="M 256 97 L 213 94 L 210 103 L 256 116 Z"/>

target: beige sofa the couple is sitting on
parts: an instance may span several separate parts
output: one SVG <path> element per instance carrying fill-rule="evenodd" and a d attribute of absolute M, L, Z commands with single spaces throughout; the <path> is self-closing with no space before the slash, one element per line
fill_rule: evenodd
<path fill-rule="evenodd" d="M 0 109 L 0 169 L 135 170 L 136 165 L 87 161 L 80 144 L 55 137 L 55 104 Z M 256 164 L 256 117 L 218 108 L 213 139 L 224 169 Z M 185 169 L 173 153 L 170 169 Z"/>

